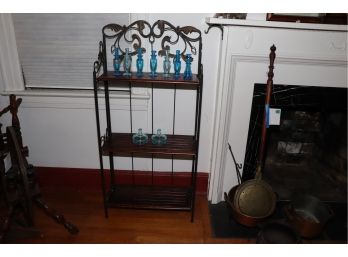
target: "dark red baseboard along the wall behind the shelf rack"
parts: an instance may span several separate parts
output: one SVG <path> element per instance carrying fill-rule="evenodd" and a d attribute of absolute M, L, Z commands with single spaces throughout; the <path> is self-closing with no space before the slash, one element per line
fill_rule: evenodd
<path fill-rule="evenodd" d="M 99 169 L 36 167 L 39 183 L 42 188 L 60 187 L 76 190 L 101 191 Z M 110 185 L 109 172 L 105 172 L 106 185 Z M 197 172 L 196 193 L 207 194 L 209 174 Z M 116 184 L 135 185 L 175 185 L 183 186 L 190 183 L 191 172 L 154 172 L 153 179 L 149 171 L 118 170 Z"/>

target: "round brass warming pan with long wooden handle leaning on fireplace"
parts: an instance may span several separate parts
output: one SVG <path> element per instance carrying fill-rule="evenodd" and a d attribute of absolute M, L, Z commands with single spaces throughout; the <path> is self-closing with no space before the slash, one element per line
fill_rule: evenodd
<path fill-rule="evenodd" d="M 231 202 L 233 202 L 232 208 L 234 208 L 235 211 L 242 216 L 242 218 L 239 219 L 239 221 L 242 221 L 240 223 L 247 226 L 255 226 L 259 221 L 272 215 L 276 205 L 276 194 L 273 192 L 271 186 L 261 178 L 268 127 L 269 104 L 273 87 L 273 64 L 276 47 L 272 45 L 270 50 L 271 53 L 269 55 L 270 65 L 266 88 L 265 112 L 255 178 L 241 183 L 236 188 L 232 188 L 228 196 L 229 203 L 231 204 Z M 238 167 L 236 165 L 236 169 L 237 168 Z M 237 171 L 239 172 L 239 170 Z M 245 221 L 245 219 L 247 219 L 247 221 Z"/>

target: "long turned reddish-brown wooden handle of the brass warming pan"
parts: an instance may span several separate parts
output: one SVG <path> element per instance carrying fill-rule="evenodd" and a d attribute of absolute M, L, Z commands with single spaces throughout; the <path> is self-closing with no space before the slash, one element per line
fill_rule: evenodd
<path fill-rule="evenodd" d="M 268 66 L 268 79 L 267 79 L 267 87 L 266 87 L 265 111 L 264 111 L 264 117 L 263 117 L 261 142 L 260 142 L 260 149 L 259 149 L 256 174 L 255 174 L 256 178 L 261 177 L 261 171 L 263 168 L 263 162 L 264 162 L 264 157 L 265 157 L 266 138 L 267 138 L 269 104 L 271 102 L 272 88 L 273 88 L 273 76 L 274 76 L 273 69 L 274 69 L 274 60 L 276 57 L 275 45 L 272 45 L 270 49 L 271 49 L 271 53 L 269 54 L 270 64 Z"/>

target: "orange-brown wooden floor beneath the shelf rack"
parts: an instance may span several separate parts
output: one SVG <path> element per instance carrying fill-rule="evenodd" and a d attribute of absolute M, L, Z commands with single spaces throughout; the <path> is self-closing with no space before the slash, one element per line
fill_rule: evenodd
<path fill-rule="evenodd" d="M 109 209 L 104 217 L 100 192 L 72 189 L 42 189 L 44 199 L 80 233 L 70 235 L 43 211 L 35 208 L 35 226 L 41 237 L 21 239 L 14 243 L 254 243 L 255 239 L 217 239 L 212 237 L 208 201 L 199 195 L 193 223 L 187 211 L 151 211 Z"/>

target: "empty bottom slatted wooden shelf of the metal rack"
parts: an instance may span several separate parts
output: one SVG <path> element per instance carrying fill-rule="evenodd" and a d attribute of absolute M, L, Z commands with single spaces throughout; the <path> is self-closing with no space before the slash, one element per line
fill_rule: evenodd
<path fill-rule="evenodd" d="M 117 185 L 108 193 L 109 207 L 191 210 L 191 187 Z"/>

